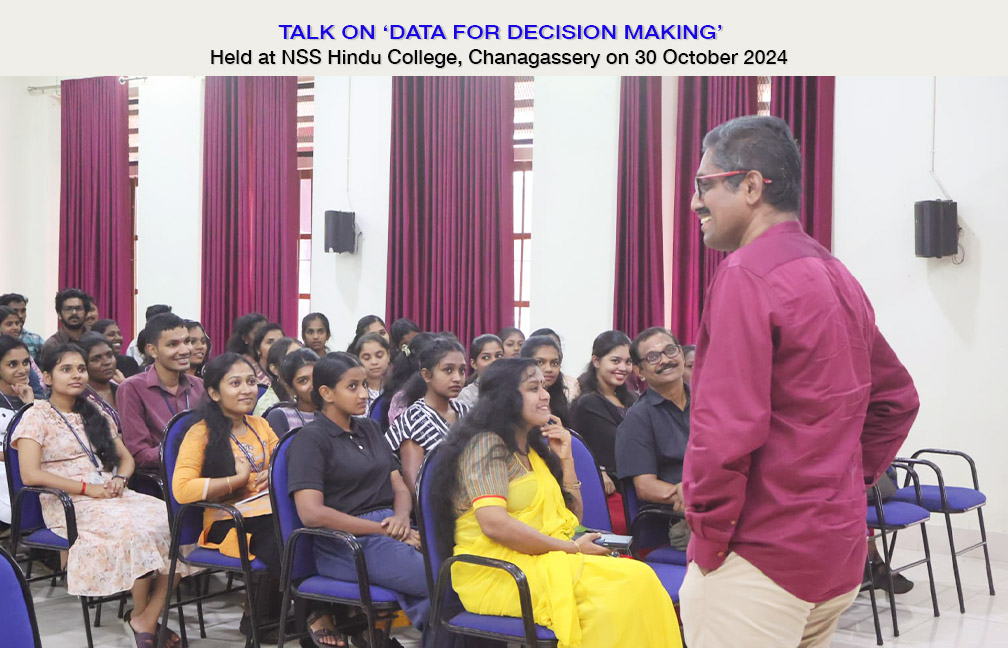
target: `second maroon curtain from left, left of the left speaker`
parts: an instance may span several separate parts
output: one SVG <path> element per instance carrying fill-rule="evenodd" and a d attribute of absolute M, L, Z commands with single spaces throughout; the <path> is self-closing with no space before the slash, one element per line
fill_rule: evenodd
<path fill-rule="evenodd" d="M 208 77 L 203 323 L 218 346 L 258 310 L 297 329 L 297 80 Z"/>

